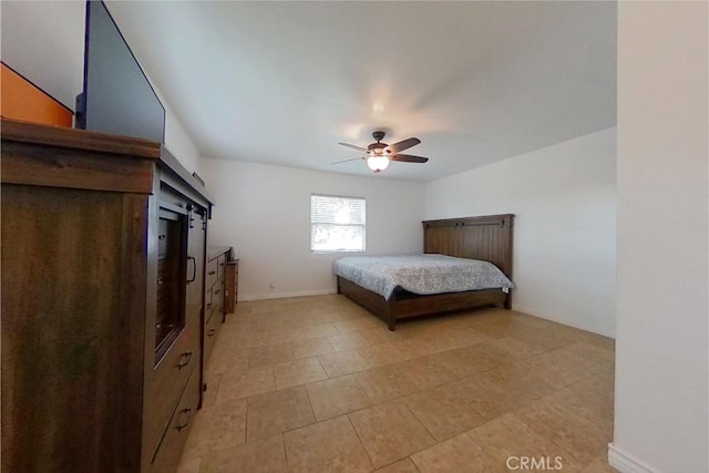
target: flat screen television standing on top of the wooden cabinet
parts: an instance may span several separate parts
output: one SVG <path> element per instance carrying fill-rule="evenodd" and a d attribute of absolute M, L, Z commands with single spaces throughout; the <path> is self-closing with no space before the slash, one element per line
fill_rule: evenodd
<path fill-rule="evenodd" d="M 103 1 L 86 2 L 76 127 L 165 142 L 165 109 Z"/>

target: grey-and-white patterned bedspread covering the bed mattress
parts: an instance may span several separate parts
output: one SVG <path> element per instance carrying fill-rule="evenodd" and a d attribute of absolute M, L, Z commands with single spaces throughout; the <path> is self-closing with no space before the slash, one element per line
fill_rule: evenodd
<path fill-rule="evenodd" d="M 514 287 L 492 263 L 445 255 L 348 256 L 332 271 L 387 300 L 397 287 L 421 295 Z"/>

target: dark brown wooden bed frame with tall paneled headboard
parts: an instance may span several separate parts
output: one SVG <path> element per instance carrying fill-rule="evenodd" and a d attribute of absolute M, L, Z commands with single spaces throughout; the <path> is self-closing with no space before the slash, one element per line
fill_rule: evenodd
<path fill-rule="evenodd" d="M 513 220 L 513 214 L 425 220 L 423 251 L 491 261 L 512 279 Z M 487 306 L 510 309 L 512 305 L 512 290 L 505 294 L 501 289 L 420 296 L 397 288 L 391 298 L 386 300 L 379 294 L 340 276 L 337 278 L 337 290 L 377 315 L 392 331 L 399 319 Z"/>

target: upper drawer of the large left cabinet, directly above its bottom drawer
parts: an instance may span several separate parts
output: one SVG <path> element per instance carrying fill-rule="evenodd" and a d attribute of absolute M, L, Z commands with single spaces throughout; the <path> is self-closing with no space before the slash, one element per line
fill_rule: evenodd
<path fill-rule="evenodd" d="M 145 444 L 151 449 L 165 431 L 187 378 L 199 366 L 199 319 L 195 317 L 187 323 L 150 377 Z"/>

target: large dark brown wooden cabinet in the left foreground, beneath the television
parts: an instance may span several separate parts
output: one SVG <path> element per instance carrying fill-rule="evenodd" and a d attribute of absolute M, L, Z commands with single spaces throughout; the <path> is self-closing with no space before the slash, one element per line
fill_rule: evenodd
<path fill-rule="evenodd" d="M 212 202 L 160 144 L 2 121 L 2 472 L 174 471 Z"/>

